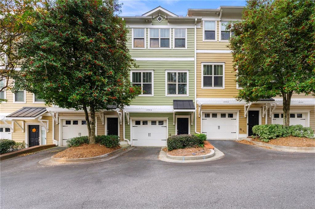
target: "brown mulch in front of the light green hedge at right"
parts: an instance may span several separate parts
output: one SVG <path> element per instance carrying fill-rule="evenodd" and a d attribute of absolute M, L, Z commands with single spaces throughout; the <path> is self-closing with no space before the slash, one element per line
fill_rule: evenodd
<path fill-rule="evenodd" d="M 256 142 L 261 142 L 258 139 L 252 139 Z M 281 137 L 278 139 L 271 139 L 267 144 L 287 146 L 287 147 L 315 147 L 315 139 L 305 137 Z"/>

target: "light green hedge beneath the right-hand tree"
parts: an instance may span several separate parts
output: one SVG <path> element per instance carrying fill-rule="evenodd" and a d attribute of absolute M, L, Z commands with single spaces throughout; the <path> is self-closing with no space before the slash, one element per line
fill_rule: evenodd
<path fill-rule="evenodd" d="M 269 142 L 270 139 L 288 136 L 310 138 L 314 136 L 314 131 L 311 127 L 303 127 L 302 125 L 267 124 L 254 126 L 253 134 L 258 136 L 261 141 Z"/>

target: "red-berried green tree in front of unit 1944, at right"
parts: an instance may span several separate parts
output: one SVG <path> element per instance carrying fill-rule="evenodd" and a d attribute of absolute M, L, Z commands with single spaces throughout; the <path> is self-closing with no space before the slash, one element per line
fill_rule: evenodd
<path fill-rule="evenodd" d="M 230 25 L 237 99 L 283 98 L 289 126 L 291 97 L 315 92 L 315 2 L 251 0 Z"/>

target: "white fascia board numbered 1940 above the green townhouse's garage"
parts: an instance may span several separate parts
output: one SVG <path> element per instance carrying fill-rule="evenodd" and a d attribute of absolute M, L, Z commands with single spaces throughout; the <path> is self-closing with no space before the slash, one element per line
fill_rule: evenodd
<path fill-rule="evenodd" d="M 130 105 L 124 108 L 126 112 L 141 112 L 141 113 L 172 113 L 173 105 Z"/>

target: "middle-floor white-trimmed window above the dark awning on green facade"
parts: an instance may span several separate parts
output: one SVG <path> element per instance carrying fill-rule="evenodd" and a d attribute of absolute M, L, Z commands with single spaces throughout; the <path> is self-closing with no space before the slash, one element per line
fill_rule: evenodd
<path fill-rule="evenodd" d="M 188 96 L 188 71 L 166 71 L 166 95 Z"/>

